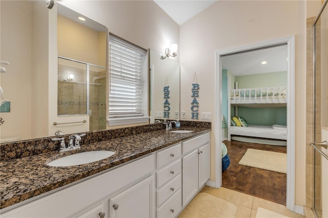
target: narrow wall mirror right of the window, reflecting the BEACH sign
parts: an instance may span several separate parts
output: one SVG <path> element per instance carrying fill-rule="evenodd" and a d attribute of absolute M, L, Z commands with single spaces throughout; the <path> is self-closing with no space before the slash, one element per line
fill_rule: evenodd
<path fill-rule="evenodd" d="M 151 123 L 180 118 L 180 64 L 150 49 Z"/>

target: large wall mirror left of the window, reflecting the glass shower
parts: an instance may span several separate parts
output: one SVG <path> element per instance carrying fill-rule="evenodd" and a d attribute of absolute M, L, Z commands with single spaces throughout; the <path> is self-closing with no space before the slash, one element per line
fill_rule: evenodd
<path fill-rule="evenodd" d="M 0 4 L 0 57 L 9 62 L 2 98 L 10 102 L 0 141 L 106 129 L 107 28 L 58 3 Z M 53 125 L 72 119 L 87 122 Z"/>

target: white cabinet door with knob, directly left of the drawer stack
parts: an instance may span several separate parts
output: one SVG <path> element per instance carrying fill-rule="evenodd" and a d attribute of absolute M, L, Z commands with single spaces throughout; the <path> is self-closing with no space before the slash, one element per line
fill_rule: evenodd
<path fill-rule="evenodd" d="M 109 200 L 110 217 L 154 217 L 154 176 L 135 184 Z"/>

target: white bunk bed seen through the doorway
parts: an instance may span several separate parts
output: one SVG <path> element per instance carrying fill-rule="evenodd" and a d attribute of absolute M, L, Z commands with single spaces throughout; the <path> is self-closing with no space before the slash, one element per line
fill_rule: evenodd
<path fill-rule="evenodd" d="M 236 86 L 238 86 L 238 83 Z M 236 117 L 238 117 L 238 106 L 257 108 L 285 107 L 287 105 L 286 92 L 286 86 L 230 89 L 230 82 L 228 82 L 228 117 L 231 118 L 231 106 L 235 106 Z M 276 124 L 246 126 L 228 125 L 228 141 L 231 141 L 232 135 L 287 140 L 286 126 Z"/>

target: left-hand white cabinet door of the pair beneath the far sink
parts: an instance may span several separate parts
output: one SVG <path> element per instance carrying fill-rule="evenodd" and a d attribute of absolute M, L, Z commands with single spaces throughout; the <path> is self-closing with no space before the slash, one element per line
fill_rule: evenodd
<path fill-rule="evenodd" d="M 182 207 L 198 191 L 198 149 L 182 158 Z"/>

